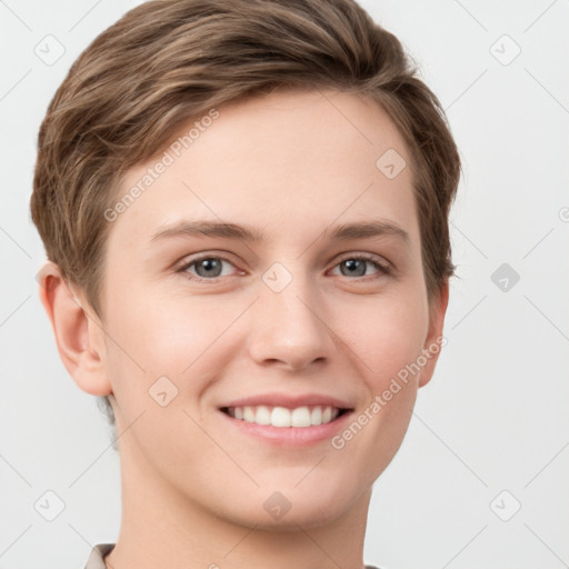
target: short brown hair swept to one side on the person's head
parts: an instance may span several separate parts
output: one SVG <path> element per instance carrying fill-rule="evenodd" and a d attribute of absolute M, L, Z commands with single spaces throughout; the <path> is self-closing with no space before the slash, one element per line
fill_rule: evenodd
<path fill-rule="evenodd" d="M 411 152 L 429 302 L 455 273 L 448 214 L 459 154 L 393 34 L 355 0 L 153 0 L 81 53 L 38 137 L 32 220 L 48 259 L 101 320 L 103 212 L 124 172 L 186 121 L 287 87 L 361 94 L 386 110 Z"/>

